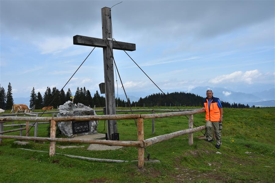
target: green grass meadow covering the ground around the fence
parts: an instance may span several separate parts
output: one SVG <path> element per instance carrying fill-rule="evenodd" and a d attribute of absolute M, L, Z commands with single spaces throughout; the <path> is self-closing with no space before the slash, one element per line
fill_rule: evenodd
<path fill-rule="evenodd" d="M 168 108 L 166 107 L 166 109 Z M 102 113 L 97 114 L 101 115 Z M 196 126 L 205 125 L 204 115 L 204 113 L 194 115 Z M 192 146 L 188 145 L 188 135 L 183 135 L 146 148 L 150 153 L 150 159 L 160 160 L 161 163 L 145 163 L 142 170 L 138 169 L 137 162 L 99 163 L 62 155 L 49 157 L 49 153 L 18 149 L 49 151 L 49 142 L 30 141 L 28 145 L 20 146 L 13 144 L 14 141 L 17 141 L 16 139 L 3 139 L 3 144 L 0 146 L 0 182 L 273 183 L 275 182 L 274 121 L 274 107 L 225 108 L 221 149 L 215 148 L 215 142 L 210 143 L 197 139 L 196 136 L 201 136 L 201 132 L 194 133 L 194 145 Z M 137 140 L 137 127 L 134 120 L 118 120 L 117 125 L 120 140 Z M 39 125 L 39 137 L 47 136 L 47 127 L 48 124 Z M 5 127 L 4 130 L 16 128 L 18 127 Z M 105 131 L 103 129 L 104 121 L 99 121 L 98 132 L 106 133 L 106 128 Z M 185 116 L 155 119 L 155 134 L 153 135 L 152 120 L 144 120 L 145 139 L 183 129 L 188 129 L 188 119 Z M 19 134 L 18 131 L 5 135 Z M 34 127 L 30 131 L 30 136 L 33 135 Z M 86 149 L 89 144 L 57 142 L 56 145 L 85 146 L 74 149 L 56 148 L 57 153 L 101 159 L 130 161 L 138 159 L 138 148 L 136 147 L 88 151 Z M 221 154 L 217 154 L 217 151 Z M 246 154 L 245 152 L 251 153 Z M 208 163 L 211 163 L 211 166 Z"/>

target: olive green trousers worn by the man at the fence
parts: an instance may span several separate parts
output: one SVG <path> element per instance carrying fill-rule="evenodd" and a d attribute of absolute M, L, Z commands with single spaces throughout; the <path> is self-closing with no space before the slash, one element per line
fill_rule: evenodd
<path fill-rule="evenodd" d="M 206 121 L 206 138 L 208 140 L 212 140 L 213 139 L 213 135 L 212 135 L 212 128 L 214 127 L 214 131 L 215 131 L 215 137 L 216 137 L 216 144 L 217 145 L 221 145 L 222 144 L 222 133 L 219 126 L 219 122 L 218 121 Z"/>

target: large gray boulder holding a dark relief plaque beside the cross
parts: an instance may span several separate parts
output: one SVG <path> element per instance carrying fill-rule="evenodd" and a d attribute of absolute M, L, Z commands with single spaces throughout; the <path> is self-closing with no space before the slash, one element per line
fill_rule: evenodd
<path fill-rule="evenodd" d="M 97 115 L 95 111 L 87 107 L 81 103 L 78 103 L 77 106 L 73 104 L 71 101 L 65 102 L 63 105 L 60 105 L 58 107 L 60 109 L 59 113 L 57 114 L 57 117 L 64 117 L 64 116 L 90 116 L 90 115 Z M 57 123 L 58 128 L 60 131 L 68 136 L 69 138 L 77 137 L 80 135 L 89 135 L 89 134 L 96 134 L 97 133 L 97 125 L 98 121 L 89 121 L 89 131 L 87 132 L 80 132 L 73 134 L 72 130 L 72 121 L 60 121 Z"/>

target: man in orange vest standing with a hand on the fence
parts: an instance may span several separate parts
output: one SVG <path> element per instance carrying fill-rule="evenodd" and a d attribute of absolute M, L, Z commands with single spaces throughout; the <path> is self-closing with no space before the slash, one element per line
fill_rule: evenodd
<path fill-rule="evenodd" d="M 216 137 L 216 148 L 220 149 L 222 144 L 222 118 L 223 110 L 220 99 L 213 97 L 212 90 L 206 91 L 206 98 L 204 99 L 204 108 L 206 111 L 205 121 L 206 121 L 206 141 L 213 142 L 212 128 L 214 127 L 215 137 Z"/>

